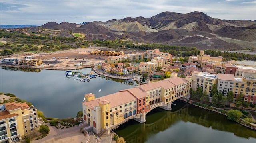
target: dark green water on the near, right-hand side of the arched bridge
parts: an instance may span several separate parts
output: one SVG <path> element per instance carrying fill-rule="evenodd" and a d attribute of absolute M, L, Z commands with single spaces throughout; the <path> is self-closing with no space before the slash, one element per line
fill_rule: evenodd
<path fill-rule="evenodd" d="M 206 134 L 208 138 L 204 136 L 200 137 L 201 139 L 196 138 L 195 142 L 209 142 L 208 139 L 215 138 L 215 136 L 217 138 L 225 138 L 225 135 L 230 133 L 230 135 L 233 134 L 232 139 L 224 139 L 225 141 L 222 141 L 237 142 L 239 141 L 237 139 L 241 139 L 241 141 L 244 141 L 244 139 L 245 141 L 248 141 L 246 139 L 256 141 L 254 130 L 248 129 L 238 123 L 233 123 L 226 119 L 224 115 L 182 102 L 178 104 L 183 107 L 178 110 L 174 109 L 172 112 L 156 108 L 146 115 L 146 123 L 137 123 L 136 121 L 130 120 L 128 123 L 121 125 L 115 132 L 119 136 L 124 137 L 126 143 L 170 142 L 170 140 L 174 142 L 193 142 L 193 139 L 195 139 L 193 134 L 196 133 Z M 212 141 L 222 142 L 216 139 L 212 139 Z"/>

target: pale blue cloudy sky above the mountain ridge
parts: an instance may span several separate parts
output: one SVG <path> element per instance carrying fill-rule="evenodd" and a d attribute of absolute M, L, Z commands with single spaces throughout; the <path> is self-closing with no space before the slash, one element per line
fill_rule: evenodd
<path fill-rule="evenodd" d="M 212 18 L 256 20 L 256 0 L 1 0 L 1 25 L 44 25 L 149 18 L 161 12 L 199 11 Z"/>

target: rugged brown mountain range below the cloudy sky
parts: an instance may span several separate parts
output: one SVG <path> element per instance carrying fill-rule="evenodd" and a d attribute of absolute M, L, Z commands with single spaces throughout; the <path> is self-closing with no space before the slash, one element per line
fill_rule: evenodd
<path fill-rule="evenodd" d="M 86 40 L 122 39 L 134 43 L 160 43 L 198 49 L 256 48 L 256 21 L 220 20 L 202 12 L 162 12 L 150 18 L 127 17 L 83 24 L 48 22 L 33 28 L 62 30 L 62 36 L 69 37 L 70 34 L 64 33 L 82 33 L 86 35 Z"/>

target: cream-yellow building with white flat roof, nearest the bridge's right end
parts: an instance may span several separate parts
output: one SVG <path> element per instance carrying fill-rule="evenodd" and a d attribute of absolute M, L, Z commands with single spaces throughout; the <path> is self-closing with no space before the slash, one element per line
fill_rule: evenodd
<path fill-rule="evenodd" d="M 207 72 L 194 71 L 192 73 L 192 77 L 192 89 L 196 90 L 197 86 L 201 86 L 203 88 L 203 92 L 206 91 L 208 95 L 210 95 L 212 85 L 217 84 L 218 81 L 218 76 L 216 74 L 210 74 Z"/>

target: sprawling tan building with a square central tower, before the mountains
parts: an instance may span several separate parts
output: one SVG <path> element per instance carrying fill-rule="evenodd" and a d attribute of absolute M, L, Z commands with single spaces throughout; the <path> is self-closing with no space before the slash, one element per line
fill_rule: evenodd
<path fill-rule="evenodd" d="M 210 57 L 210 55 L 204 54 L 204 50 L 200 50 L 199 55 L 197 56 L 190 56 L 188 58 L 188 63 L 195 63 L 196 67 L 202 69 L 207 64 L 209 65 L 220 65 L 222 61 L 222 57 Z"/>

